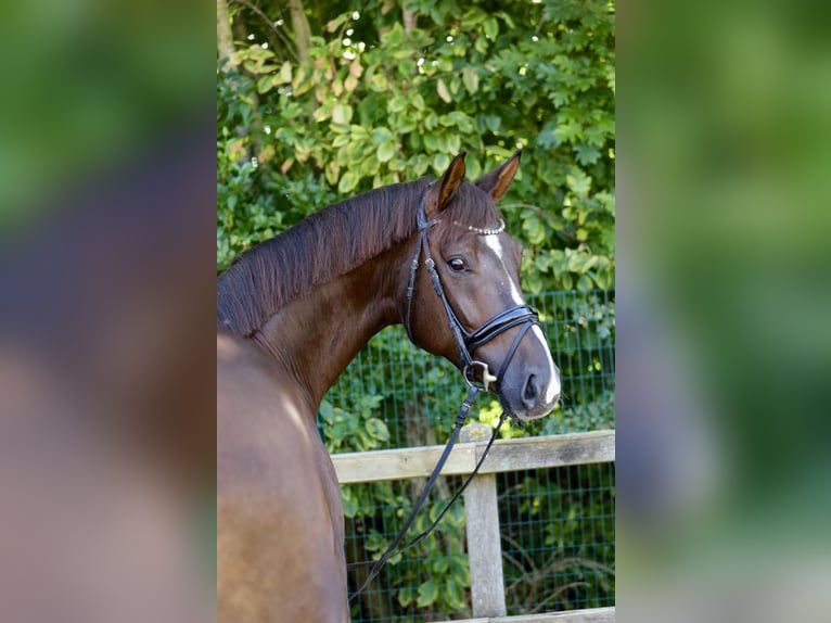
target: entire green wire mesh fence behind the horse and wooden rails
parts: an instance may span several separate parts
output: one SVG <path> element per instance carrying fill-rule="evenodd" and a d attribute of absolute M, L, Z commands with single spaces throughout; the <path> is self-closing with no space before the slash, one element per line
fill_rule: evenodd
<path fill-rule="evenodd" d="M 563 399 L 535 422 L 510 422 L 502 436 L 614 428 L 614 292 L 529 295 L 540 313 Z M 400 327 L 376 335 L 330 391 L 319 414 L 332 453 L 444 444 L 465 394 L 459 371 L 413 346 Z M 500 409 L 480 398 L 472 419 L 493 425 Z M 421 479 L 343 487 L 349 562 L 371 560 L 397 533 Z M 461 478 L 439 479 L 411 534 L 426 527 Z M 497 474 L 509 614 L 614 605 L 614 465 Z M 353 621 L 471 618 L 461 503 L 434 534 L 395 557 L 353 606 Z M 350 590 L 369 567 L 349 572 Z"/>

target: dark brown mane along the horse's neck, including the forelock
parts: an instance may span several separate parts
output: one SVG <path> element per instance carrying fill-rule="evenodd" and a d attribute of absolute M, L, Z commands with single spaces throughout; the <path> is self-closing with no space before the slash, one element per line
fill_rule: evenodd
<path fill-rule="evenodd" d="M 242 253 L 217 281 L 217 326 L 250 336 L 304 291 L 412 237 L 429 183 L 429 178 L 421 178 L 346 199 Z M 450 219 L 485 227 L 498 224 L 493 202 L 477 194 L 484 192 L 464 182 L 447 207 L 443 229 Z"/>

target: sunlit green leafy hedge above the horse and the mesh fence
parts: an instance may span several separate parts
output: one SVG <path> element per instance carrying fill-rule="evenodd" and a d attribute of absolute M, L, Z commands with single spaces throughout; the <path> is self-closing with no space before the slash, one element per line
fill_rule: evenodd
<path fill-rule="evenodd" d="M 475 178 L 523 147 L 502 208 L 526 290 L 611 288 L 614 4 L 414 0 L 409 31 L 399 9 L 360 4 L 308 11 L 308 63 L 255 37 L 243 72 L 219 75 L 218 268 L 338 198 L 462 150 Z"/>

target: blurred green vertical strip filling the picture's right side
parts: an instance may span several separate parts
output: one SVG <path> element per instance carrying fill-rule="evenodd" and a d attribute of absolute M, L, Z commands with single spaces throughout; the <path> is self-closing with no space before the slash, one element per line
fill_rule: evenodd
<path fill-rule="evenodd" d="M 622 621 L 831 621 L 821 3 L 618 12 Z"/>

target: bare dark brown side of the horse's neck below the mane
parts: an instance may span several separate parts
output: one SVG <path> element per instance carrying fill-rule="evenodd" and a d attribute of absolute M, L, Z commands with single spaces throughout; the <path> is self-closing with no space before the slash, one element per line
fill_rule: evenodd
<path fill-rule="evenodd" d="M 411 249 L 412 243 L 399 244 L 307 290 L 252 335 L 296 378 L 314 412 L 369 340 L 402 321 Z"/>

